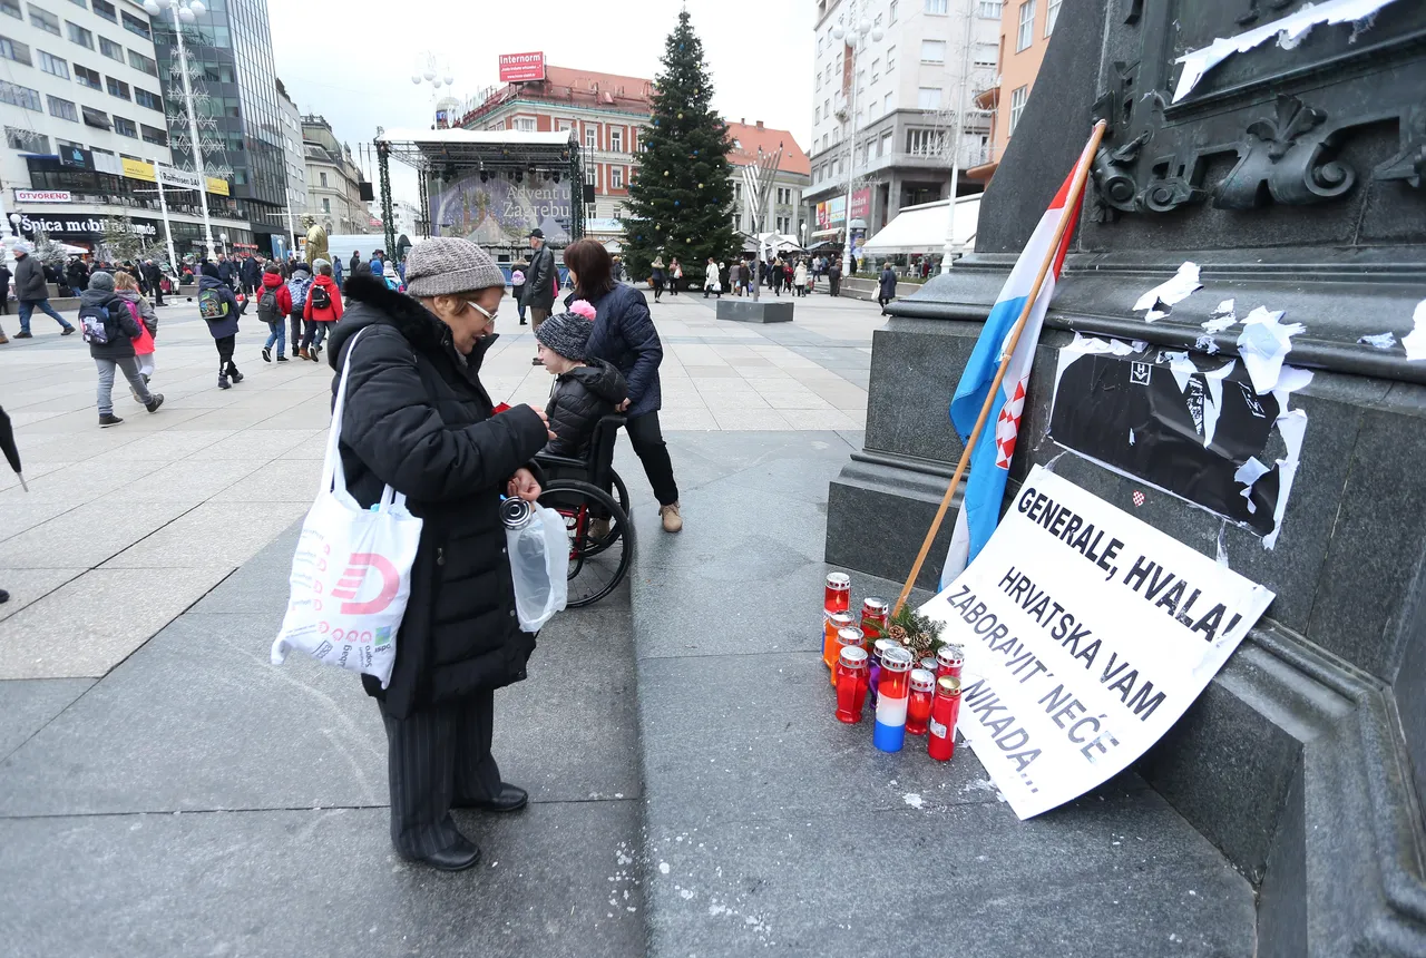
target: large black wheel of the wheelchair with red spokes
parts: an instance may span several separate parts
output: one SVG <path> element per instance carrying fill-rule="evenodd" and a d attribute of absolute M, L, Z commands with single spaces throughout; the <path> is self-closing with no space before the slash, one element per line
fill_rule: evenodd
<path fill-rule="evenodd" d="M 539 505 L 565 517 L 569 535 L 570 609 L 590 606 L 613 592 L 633 562 L 633 523 L 629 513 L 603 489 L 575 479 L 556 479 L 540 493 Z M 595 535 L 596 520 L 607 517 L 606 535 Z"/>

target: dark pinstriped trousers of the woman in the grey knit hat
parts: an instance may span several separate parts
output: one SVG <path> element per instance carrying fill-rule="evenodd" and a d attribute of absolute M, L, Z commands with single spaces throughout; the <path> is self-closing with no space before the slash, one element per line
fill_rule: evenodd
<path fill-rule="evenodd" d="M 381 704 L 381 703 L 378 703 Z M 485 689 L 455 703 L 386 714 L 386 778 L 391 786 L 391 844 L 408 858 L 434 855 L 461 833 L 452 803 L 485 801 L 501 788 L 491 754 L 495 691 Z"/>

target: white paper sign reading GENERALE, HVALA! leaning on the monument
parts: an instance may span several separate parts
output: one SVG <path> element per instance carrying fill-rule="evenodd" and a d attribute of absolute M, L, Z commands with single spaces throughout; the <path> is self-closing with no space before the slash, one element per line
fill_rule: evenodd
<path fill-rule="evenodd" d="M 1035 466 L 921 613 L 965 649 L 961 734 L 1021 818 L 1122 771 L 1273 593 Z"/>

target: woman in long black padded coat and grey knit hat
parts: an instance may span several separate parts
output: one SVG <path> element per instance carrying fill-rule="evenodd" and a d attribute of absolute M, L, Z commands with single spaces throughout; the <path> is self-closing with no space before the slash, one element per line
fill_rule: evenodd
<path fill-rule="evenodd" d="M 459 871 L 481 853 L 451 808 L 516 811 L 528 800 L 491 756 L 493 691 L 525 679 L 535 650 L 515 614 L 499 509 L 502 493 L 539 496 L 525 463 L 553 436 L 530 406 L 495 416 L 481 385 L 505 295 L 495 262 L 465 240 L 428 240 L 411 251 L 406 281 L 409 297 L 371 274 L 347 279 L 328 361 L 335 392 L 351 354 L 348 490 L 369 506 L 389 485 L 425 520 L 391 681 L 382 690 L 364 676 L 386 726 L 391 840 L 405 858 Z"/>

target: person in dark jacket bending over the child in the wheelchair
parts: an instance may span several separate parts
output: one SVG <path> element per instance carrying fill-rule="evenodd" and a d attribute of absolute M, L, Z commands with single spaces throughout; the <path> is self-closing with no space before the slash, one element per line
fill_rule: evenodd
<path fill-rule="evenodd" d="M 595 307 L 595 329 L 585 348 L 586 356 L 613 364 L 629 383 L 629 398 L 619 406 L 627 416 L 625 431 L 659 500 L 665 532 L 683 529 L 679 508 L 679 483 L 673 479 L 669 446 L 659 428 L 663 389 L 659 364 L 663 344 L 653 328 L 649 302 L 633 287 L 613 281 L 613 261 L 596 240 L 576 240 L 565 249 L 565 265 L 575 278 L 575 291 L 565 301 L 586 299 Z"/>

